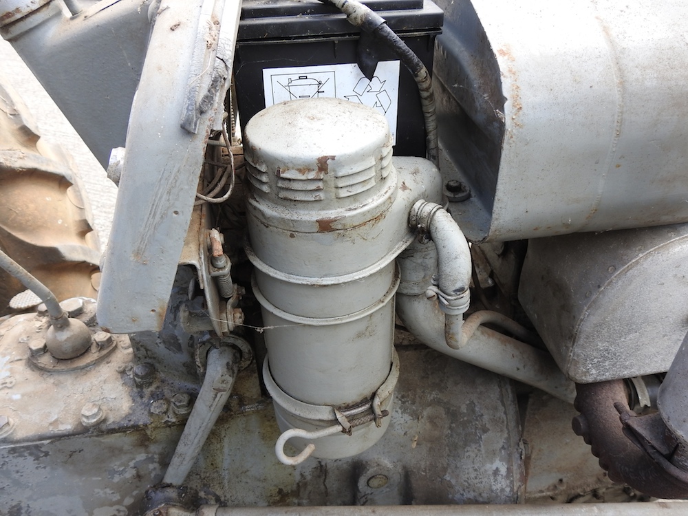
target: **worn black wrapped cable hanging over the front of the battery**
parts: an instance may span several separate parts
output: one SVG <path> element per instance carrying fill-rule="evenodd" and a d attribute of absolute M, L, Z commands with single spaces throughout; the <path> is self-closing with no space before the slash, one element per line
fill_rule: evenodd
<path fill-rule="evenodd" d="M 435 112 L 435 94 L 432 87 L 432 78 L 430 72 L 425 67 L 420 58 L 409 48 L 409 46 L 402 41 L 402 39 L 389 28 L 385 19 L 374 12 L 363 3 L 356 0 L 320 0 L 323 3 L 341 10 L 347 15 L 347 20 L 352 25 L 360 28 L 365 32 L 373 34 L 377 39 L 384 41 L 392 51 L 398 56 L 400 61 L 404 63 L 405 67 L 413 75 L 418 85 L 418 92 L 420 94 L 420 105 L 423 111 L 423 118 L 425 121 L 425 144 L 427 147 L 427 157 L 439 168 L 440 160 L 438 154 L 438 137 L 437 137 L 437 116 Z"/>

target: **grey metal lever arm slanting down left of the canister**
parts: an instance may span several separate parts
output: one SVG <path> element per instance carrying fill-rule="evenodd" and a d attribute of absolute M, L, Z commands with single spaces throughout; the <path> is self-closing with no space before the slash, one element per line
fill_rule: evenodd
<path fill-rule="evenodd" d="M 222 407 L 227 402 L 239 372 L 239 352 L 233 347 L 213 348 L 208 352 L 208 367 L 182 432 L 172 460 L 162 479 L 164 484 L 180 485 L 200 453 Z"/>

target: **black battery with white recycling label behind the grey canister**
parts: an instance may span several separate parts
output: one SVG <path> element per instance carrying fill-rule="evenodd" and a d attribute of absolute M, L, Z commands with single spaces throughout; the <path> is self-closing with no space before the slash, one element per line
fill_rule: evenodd
<path fill-rule="evenodd" d="M 443 13 L 429 0 L 369 0 L 432 72 Z M 286 100 L 337 97 L 384 114 L 395 155 L 425 156 L 420 95 L 387 44 L 317 0 L 244 0 L 234 63 L 239 122 Z"/>

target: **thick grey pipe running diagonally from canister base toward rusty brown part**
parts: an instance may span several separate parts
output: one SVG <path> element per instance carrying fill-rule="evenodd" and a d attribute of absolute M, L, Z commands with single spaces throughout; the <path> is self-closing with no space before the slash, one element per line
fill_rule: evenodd
<path fill-rule="evenodd" d="M 574 383 L 549 354 L 486 327 L 477 327 L 461 349 L 448 347 L 444 341 L 444 314 L 437 303 L 423 295 L 397 293 L 396 313 L 407 330 L 433 350 L 532 385 L 560 400 L 573 402 L 576 396 Z"/>

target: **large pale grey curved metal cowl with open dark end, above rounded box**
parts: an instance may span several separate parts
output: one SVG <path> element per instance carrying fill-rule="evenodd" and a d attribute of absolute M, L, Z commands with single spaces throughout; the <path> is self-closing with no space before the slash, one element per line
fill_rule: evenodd
<path fill-rule="evenodd" d="M 466 3 L 460 2 L 469 11 Z M 461 21 L 449 7 L 446 35 L 438 38 L 440 49 L 463 45 L 445 51 L 463 68 L 435 67 L 440 122 L 464 129 L 461 138 L 444 131 L 444 147 L 454 173 L 479 192 L 453 204 L 469 238 L 688 220 L 687 3 L 474 0 L 472 6 L 484 32 L 458 41 Z M 471 74 L 479 52 L 496 61 L 499 75 L 487 65 Z M 503 108 L 491 94 L 500 84 Z"/>

